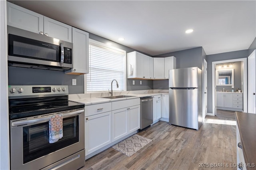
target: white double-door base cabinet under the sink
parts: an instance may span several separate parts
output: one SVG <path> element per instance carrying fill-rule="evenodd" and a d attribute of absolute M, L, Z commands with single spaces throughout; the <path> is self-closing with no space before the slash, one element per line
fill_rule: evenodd
<path fill-rule="evenodd" d="M 112 102 L 112 142 L 140 128 L 140 99 Z"/>

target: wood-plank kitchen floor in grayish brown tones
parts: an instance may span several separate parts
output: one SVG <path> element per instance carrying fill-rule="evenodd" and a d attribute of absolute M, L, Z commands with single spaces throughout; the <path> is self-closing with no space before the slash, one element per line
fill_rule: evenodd
<path fill-rule="evenodd" d="M 236 126 L 225 125 L 227 122 L 235 123 L 229 118 L 224 121 L 206 116 L 197 131 L 160 121 L 138 133 L 152 142 L 134 155 L 128 157 L 108 148 L 86 160 L 80 170 L 235 170 L 231 166 L 236 163 Z M 222 163 L 224 167 L 216 167 Z M 208 167 L 199 167 L 200 164 Z"/>

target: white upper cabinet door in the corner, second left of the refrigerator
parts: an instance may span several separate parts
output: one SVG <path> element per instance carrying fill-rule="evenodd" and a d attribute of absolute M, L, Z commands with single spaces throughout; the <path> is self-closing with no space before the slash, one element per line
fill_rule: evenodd
<path fill-rule="evenodd" d="M 164 58 L 154 57 L 154 79 L 164 79 Z"/>

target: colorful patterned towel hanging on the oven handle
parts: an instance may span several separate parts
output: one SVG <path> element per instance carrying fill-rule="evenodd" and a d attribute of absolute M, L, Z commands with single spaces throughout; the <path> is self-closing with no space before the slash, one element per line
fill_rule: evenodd
<path fill-rule="evenodd" d="M 63 115 L 53 115 L 49 120 L 49 143 L 57 142 L 63 137 Z"/>

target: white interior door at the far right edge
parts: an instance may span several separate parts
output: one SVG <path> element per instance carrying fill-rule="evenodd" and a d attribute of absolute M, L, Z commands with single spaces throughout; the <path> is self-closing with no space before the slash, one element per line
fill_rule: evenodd
<path fill-rule="evenodd" d="M 248 57 L 248 113 L 255 113 L 255 50 Z"/>

